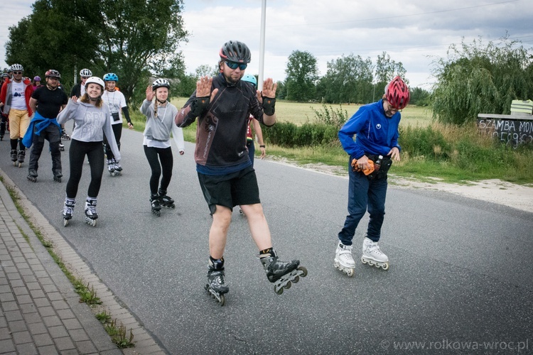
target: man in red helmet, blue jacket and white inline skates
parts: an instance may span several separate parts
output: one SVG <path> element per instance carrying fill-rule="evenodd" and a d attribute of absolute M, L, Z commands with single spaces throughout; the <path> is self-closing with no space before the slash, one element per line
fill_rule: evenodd
<path fill-rule="evenodd" d="M 338 136 L 346 153 L 348 166 L 348 216 L 339 232 L 335 251 L 335 267 L 352 276 L 355 262 L 352 239 L 361 218 L 368 211 L 370 222 L 362 246 L 362 263 L 389 268 L 389 258 L 377 242 L 385 214 L 387 171 L 392 160 L 400 160 L 398 125 L 400 111 L 409 103 L 409 87 L 395 77 L 381 100 L 360 107 L 340 129 Z M 356 136 L 354 139 L 353 137 Z"/>

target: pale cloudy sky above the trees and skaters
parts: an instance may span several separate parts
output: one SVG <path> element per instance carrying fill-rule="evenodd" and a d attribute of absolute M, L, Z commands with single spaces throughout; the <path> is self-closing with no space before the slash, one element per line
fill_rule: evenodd
<path fill-rule="evenodd" d="M 6 1 L 7 2 L 7 1 Z M 185 0 L 183 18 L 190 32 L 181 49 L 188 72 L 215 65 L 227 40 L 241 40 L 252 50 L 249 74 L 259 73 L 262 0 Z M 31 0 L 1 6 L 0 66 L 9 26 L 31 13 Z M 429 89 L 432 62 L 446 58 L 453 43 L 509 35 L 533 48 L 533 0 L 266 0 L 264 75 L 284 80 L 288 56 L 308 51 L 325 75 L 328 61 L 360 55 L 375 63 L 387 52 L 402 62 L 413 87 Z M 533 51 L 532 51 L 533 53 Z M 23 63 L 22 63 L 23 64 Z"/>

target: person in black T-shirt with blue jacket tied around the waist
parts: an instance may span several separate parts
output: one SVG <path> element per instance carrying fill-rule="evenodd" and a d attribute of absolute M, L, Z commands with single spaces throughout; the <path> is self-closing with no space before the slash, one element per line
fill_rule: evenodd
<path fill-rule="evenodd" d="M 58 89 L 60 78 L 61 75 L 57 70 L 48 70 L 45 73 L 46 85 L 38 87 L 31 94 L 30 107 L 35 114 L 22 143 L 28 148 L 33 145 L 28 164 L 28 180 L 32 182 L 37 181 L 38 162 L 43 152 L 45 139 L 50 143 L 53 178 L 61 182 L 63 177 L 60 151 L 61 127 L 56 117 L 67 106 L 68 97 L 63 90 Z"/>

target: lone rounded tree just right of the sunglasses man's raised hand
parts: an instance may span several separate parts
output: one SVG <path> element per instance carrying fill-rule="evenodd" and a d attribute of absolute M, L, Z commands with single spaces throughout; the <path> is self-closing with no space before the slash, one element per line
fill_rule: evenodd
<path fill-rule="evenodd" d="M 315 98 L 318 66 L 311 53 L 294 50 L 289 55 L 285 72 L 286 99 L 306 102 Z"/>

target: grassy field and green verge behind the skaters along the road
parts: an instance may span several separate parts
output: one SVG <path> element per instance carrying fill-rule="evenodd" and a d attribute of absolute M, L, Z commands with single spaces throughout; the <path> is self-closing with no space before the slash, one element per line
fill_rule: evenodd
<path fill-rule="evenodd" d="M 172 99 L 181 108 L 187 98 Z M 352 116 L 360 105 L 325 105 L 328 109 L 342 109 Z M 296 125 L 316 122 L 315 111 L 323 111 L 323 104 L 276 102 L 278 121 Z M 135 129 L 144 130 L 144 116 L 132 110 Z M 268 128 L 264 128 L 268 129 Z M 533 184 L 533 150 L 513 150 L 480 136 L 475 126 L 458 127 L 437 124 L 431 111 L 424 107 L 408 106 L 402 111 L 399 143 L 404 147 L 402 160 L 392 165 L 390 173 L 409 178 L 439 178 L 444 182 L 466 182 L 501 179 L 519 184 Z M 183 130 L 186 141 L 195 141 L 195 125 Z M 259 153 L 257 151 L 256 153 Z M 330 146 L 284 148 L 267 143 L 266 154 L 271 158 L 286 158 L 298 164 L 325 164 L 346 169 L 348 155 L 340 143 Z"/>

